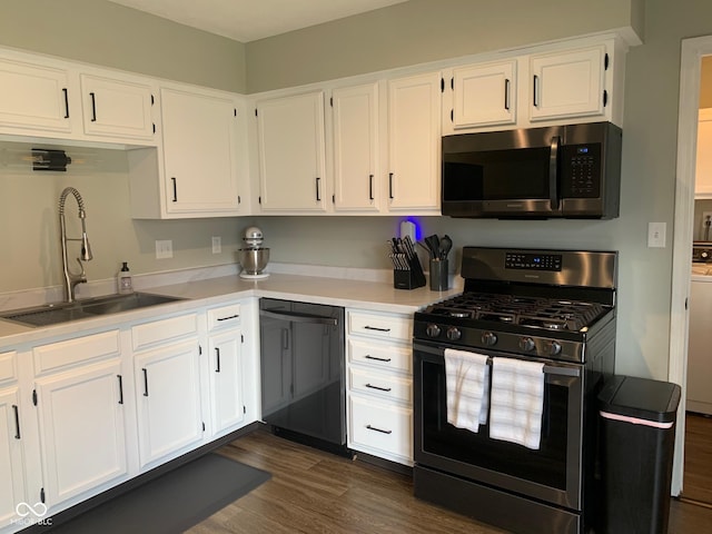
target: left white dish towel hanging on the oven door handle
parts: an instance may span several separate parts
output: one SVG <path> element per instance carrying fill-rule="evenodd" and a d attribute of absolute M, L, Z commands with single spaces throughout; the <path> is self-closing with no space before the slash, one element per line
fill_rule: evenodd
<path fill-rule="evenodd" d="M 445 349 L 447 422 L 477 432 L 487 422 L 490 366 L 487 356 L 454 348 Z"/>

